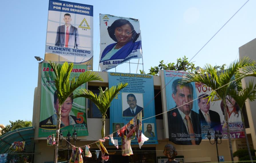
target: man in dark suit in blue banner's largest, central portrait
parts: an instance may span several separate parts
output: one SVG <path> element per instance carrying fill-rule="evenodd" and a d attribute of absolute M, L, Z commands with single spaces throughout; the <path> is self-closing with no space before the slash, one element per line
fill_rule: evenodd
<path fill-rule="evenodd" d="M 136 97 L 131 93 L 127 95 L 127 104 L 130 107 L 123 111 L 123 117 L 134 117 L 143 109 L 137 105 Z M 143 110 L 142 117 L 144 117 Z"/>

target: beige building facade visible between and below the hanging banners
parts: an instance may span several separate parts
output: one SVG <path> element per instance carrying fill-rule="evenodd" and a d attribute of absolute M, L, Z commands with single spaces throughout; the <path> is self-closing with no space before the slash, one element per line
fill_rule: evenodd
<path fill-rule="evenodd" d="M 256 41 L 255 41 L 256 42 Z M 256 43 L 255 43 L 256 45 Z M 241 48 L 239 48 L 240 51 Z M 254 56 L 255 57 L 255 56 Z M 35 126 L 35 147 L 34 152 L 37 154 L 34 154 L 33 161 L 37 163 L 43 163 L 43 162 L 52 162 L 54 157 L 54 146 L 47 146 L 46 145 L 46 137 L 38 137 L 38 131 L 39 131 L 39 119 L 40 119 L 40 104 L 41 104 L 41 63 L 39 63 L 39 71 L 38 71 L 38 86 L 35 88 L 35 94 L 34 94 L 34 107 L 33 107 L 33 126 Z M 99 75 L 104 79 L 104 81 L 92 81 L 88 82 L 88 89 L 94 91 L 97 91 L 99 86 L 102 87 L 108 87 L 108 72 L 97 72 Z M 158 94 L 158 96 L 155 97 L 155 112 L 156 115 L 166 112 L 166 95 L 165 90 L 163 89 L 164 84 L 163 80 L 164 77 L 160 73 L 159 76 L 153 76 L 154 81 L 154 95 L 158 94 L 158 92 L 161 93 Z M 255 145 L 255 125 L 253 121 L 253 108 L 250 108 L 250 104 L 246 105 L 246 111 L 249 119 L 249 125 L 247 125 L 246 131 L 247 136 L 249 138 L 249 142 L 252 147 L 256 147 Z M 255 106 L 255 105 L 253 105 Z M 85 145 L 94 143 L 95 141 L 98 141 L 98 139 L 101 139 L 101 127 L 102 122 L 100 119 L 100 116 L 97 114 L 97 108 L 93 105 L 92 102 L 88 101 L 87 103 L 87 126 L 88 126 L 88 136 L 79 136 L 76 141 L 75 146 L 76 147 L 82 147 L 84 148 Z M 249 114 L 251 113 L 251 114 Z M 110 121 L 109 121 L 109 113 L 107 113 L 108 118 L 106 119 L 106 135 L 110 134 Z M 209 143 L 208 139 L 202 140 L 200 145 L 175 145 L 174 143 L 170 142 L 168 139 L 168 120 L 167 120 L 167 113 L 164 113 L 162 115 L 158 115 L 156 117 L 156 132 L 157 132 L 157 140 L 158 144 L 144 144 L 142 148 L 140 149 L 138 145 L 132 145 L 133 155 L 132 156 L 122 156 L 121 150 L 116 149 L 113 145 L 108 145 L 108 142 L 105 142 L 105 147 L 107 148 L 110 159 L 108 162 L 154 162 L 158 163 L 161 161 L 161 159 L 164 159 L 163 149 L 164 146 L 168 143 L 173 144 L 176 147 L 176 150 L 178 151 L 178 159 L 181 159 L 180 161 L 184 162 L 217 162 L 217 152 L 216 152 L 216 146 L 211 145 Z M 71 133 L 72 134 L 72 133 Z M 64 137 L 66 135 L 63 135 Z M 213 140 L 211 140 L 213 143 Z M 65 141 L 61 142 L 61 145 L 66 145 Z M 74 145 L 74 141 L 71 140 L 70 143 Z M 121 146 L 121 145 L 119 145 Z M 233 152 L 241 149 L 246 148 L 245 139 L 232 139 L 232 146 L 233 146 Z M 60 147 L 59 146 L 59 160 L 67 160 L 68 159 L 68 153 L 67 153 L 66 147 Z M 70 147 L 71 149 L 71 147 Z M 222 143 L 218 145 L 219 149 L 219 156 L 223 156 L 225 161 L 231 161 L 231 156 L 229 152 L 229 143 L 227 139 L 222 139 Z M 96 159 L 94 156 L 95 152 L 94 150 L 98 150 L 98 147 L 95 144 L 91 145 L 90 148 L 93 157 L 87 158 L 84 160 L 84 162 L 99 162 L 100 158 Z M 40 153 L 40 154 L 38 154 Z M 71 151 L 70 153 L 71 154 Z M 235 160 L 238 160 L 235 158 Z"/>

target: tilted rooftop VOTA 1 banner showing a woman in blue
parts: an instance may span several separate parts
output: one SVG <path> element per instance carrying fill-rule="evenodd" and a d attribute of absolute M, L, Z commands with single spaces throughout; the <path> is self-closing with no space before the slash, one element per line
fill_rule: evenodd
<path fill-rule="evenodd" d="M 142 58 L 139 20 L 100 14 L 101 71 L 135 58 Z"/>

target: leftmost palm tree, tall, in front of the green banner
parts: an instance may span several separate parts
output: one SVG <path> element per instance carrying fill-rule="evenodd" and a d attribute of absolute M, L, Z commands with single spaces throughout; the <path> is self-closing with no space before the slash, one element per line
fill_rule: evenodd
<path fill-rule="evenodd" d="M 61 107 L 64 101 L 70 96 L 70 94 L 76 90 L 80 85 L 94 80 L 103 81 L 101 77 L 98 76 L 97 73 L 92 71 L 86 71 L 81 73 L 78 79 L 72 78 L 70 81 L 70 73 L 73 69 L 73 63 L 68 64 L 68 62 L 63 63 L 60 65 L 57 62 L 48 61 L 55 73 L 55 86 L 56 86 L 56 93 L 57 98 L 59 99 L 59 110 L 57 114 L 57 125 L 56 125 L 56 145 L 55 145 L 55 155 L 54 155 L 54 162 L 57 163 L 57 155 L 58 155 L 58 143 L 59 143 L 59 129 L 61 123 Z"/>

